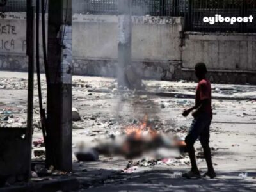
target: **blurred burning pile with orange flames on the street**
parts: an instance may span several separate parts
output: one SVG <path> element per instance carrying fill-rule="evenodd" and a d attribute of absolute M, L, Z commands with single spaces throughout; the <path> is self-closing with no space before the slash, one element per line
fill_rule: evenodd
<path fill-rule="evenodd" d="M 90 151 L 84 145 L 81 146 L 79 144 L 77 147 L 78 160 L 81 159 L 81 154 L 88 154 Z M 157 151 L 159 148 L 179 149 L 180 152 L 184 152 L 186 144 L 177 136 L 158 132 L 148 121 L 148 115 L 145 115 L 141 122 L 124 126 L 124 132 L 120 136 L 97 140 L 93 150 L 106 156 L 124 156 L 126 159 L 134 159 Z"/>

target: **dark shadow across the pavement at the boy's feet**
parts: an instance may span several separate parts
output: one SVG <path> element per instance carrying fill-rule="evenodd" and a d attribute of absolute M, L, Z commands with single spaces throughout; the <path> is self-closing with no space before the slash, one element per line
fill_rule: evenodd
<path fill-rule="evenodd" d="M 179 170 L 180 171 L 180 170 Z M 179 172 L 178 171 L 178 172 Z M 172 178 L 175 171 L 154 171 L 121 174 L 120 178 L 109 178 L 102 186 L 86 191 L 255 191 L 256 172 L 248 172 L 248 177 L 239 177 L 241 172 L 218 172 L 216 179 Z M 111 182 L 112 180 L 112 182 Z M 107 184 L 106 184 L 107 183 Z"/>

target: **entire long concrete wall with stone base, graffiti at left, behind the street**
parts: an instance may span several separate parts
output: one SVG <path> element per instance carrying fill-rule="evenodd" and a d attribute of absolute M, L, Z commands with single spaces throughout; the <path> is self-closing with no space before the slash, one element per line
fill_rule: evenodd
<path fill-rule="evenodd" d="M 116 76 L 117 20 L 74 15 L 74 74 Z M 194 81 L 193 67 L 202 61 L 214 83 L 256 84 L 255 34 L 183 33 L 180 17 L 132 17 L 132 23 L 132 65 L 144 78 Z M 0 19 L 0 70 L 28 70 L 26 13 Z"/>

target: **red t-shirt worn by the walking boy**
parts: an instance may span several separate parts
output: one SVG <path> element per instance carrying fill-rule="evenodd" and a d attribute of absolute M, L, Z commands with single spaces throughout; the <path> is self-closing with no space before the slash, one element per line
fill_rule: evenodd
<path fill-rule="evenodd" d="M 196 106 L 200 106 L 204 99 L 209 99 L 209 102 L 202 111 L 212 115 L 212 88 L 208 79 L 202 79 L 196 87 Z"/>

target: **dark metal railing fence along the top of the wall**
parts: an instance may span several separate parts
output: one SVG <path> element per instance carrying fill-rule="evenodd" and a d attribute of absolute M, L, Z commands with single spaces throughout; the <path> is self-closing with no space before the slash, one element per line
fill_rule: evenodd
<path fill-rule="evenodd" d="M 34 0 L 35 1 L 35 0 Z M 186 31 L 256 33 L 256 0 L 131 0 L 132 15 L 182 16 Z M 45 1 L 47 3 L 47 1 Z M 118 0 L 72 0 L 73 13 L 118 15 Z M 0 12 L 26 12 L 26 0 L 8 0 Z M 252 23 L 203 22 L 204 17 L 254 17 Z"/>

